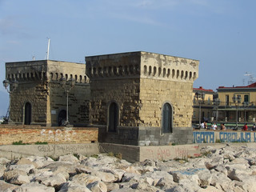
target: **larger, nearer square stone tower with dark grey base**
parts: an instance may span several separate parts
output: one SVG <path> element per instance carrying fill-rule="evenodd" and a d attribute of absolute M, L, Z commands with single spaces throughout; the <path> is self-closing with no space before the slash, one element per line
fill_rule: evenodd
<path fill-rule="evenodd" d="M 192 143 L 192 93 L 199 61 L 148 52 L 86 57 L 90 124 L 99 142 Z"/>

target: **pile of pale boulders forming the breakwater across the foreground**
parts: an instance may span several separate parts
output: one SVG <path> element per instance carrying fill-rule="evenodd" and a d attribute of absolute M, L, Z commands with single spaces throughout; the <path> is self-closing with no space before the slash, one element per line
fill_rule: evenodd
<path fill-rule="evenodd" d="M 227 144 L 201 153 L 133 164 L 107 154 L 0 158 L 0 191 L 256 191 L 256 149 Z"/>

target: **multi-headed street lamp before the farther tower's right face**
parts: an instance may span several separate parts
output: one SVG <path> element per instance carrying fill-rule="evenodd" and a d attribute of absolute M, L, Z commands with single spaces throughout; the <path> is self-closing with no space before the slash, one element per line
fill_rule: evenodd
<path fill-rule="evenodd" d="M 60 79 L 60 84 L 62 88 L 66 91 L 66 122 L 64 123 L 65 126 L 70 126 L 69 122 L 69 93 L 70 90 L 74 87 L 75 80 L 71 78 L 70 80 L 66 80 L 66 78 Z M 66 86 L 68 84 L 68 86 Z"/>

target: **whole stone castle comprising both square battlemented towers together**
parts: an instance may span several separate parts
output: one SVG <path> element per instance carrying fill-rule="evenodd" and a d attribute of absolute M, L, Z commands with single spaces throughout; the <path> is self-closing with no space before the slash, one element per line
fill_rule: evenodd
<path fill-rule="evenodd" d="M 16 124 L 62 126 L 68 102 L 70 124 L 98 127 L 99 142 L 192 143 L 198 65 L 198 60 L 143 51 L 86 57 L 86 64 L 7 62 L 6 79 L 18 81 L 10 118 Z M 61 85 L 63 78 L 68 81 Z"/>

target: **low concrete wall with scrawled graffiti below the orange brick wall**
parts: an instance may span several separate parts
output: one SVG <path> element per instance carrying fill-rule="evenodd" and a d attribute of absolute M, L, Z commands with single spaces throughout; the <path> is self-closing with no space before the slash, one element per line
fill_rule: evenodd
<path fill-rule="evenodd" d="M 86 156 L 99 153 L 98 143 L 0 146 L 0 158 L 17 159 L 29 156 L 48 156 L 58 158 L 64 154 L 83 154 Z"/>

